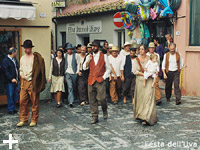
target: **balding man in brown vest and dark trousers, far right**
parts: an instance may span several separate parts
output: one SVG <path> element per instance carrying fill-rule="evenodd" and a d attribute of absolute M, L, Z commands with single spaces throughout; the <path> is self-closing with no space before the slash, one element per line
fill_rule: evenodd
<path fill-rule="evenodd" d="M 183 67 L 183 59 L 179 52 L 176 52 L 176 44 L 169 45 L 169 52 L 164 55 L 162 70 L 164 79 L 166 79 L 165 94 L 167 102 L 170 102 L 172 94 L 172 83 L 174 82 L 174 93 L 176 96 L 176 105 L 181 104 L 181 90 L 179 88 L 180 70 Z"/>

